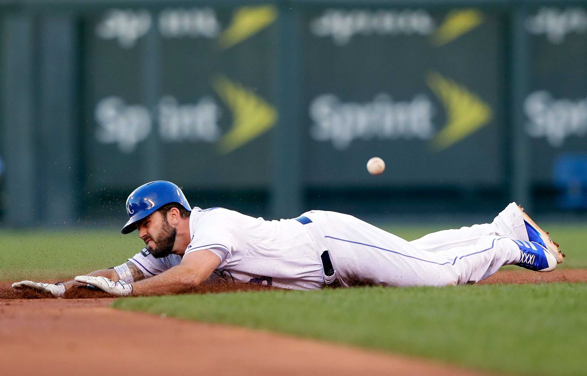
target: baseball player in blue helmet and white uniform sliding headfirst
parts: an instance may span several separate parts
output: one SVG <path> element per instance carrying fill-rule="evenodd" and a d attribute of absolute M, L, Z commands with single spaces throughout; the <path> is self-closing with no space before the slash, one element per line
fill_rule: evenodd
<path fill-rule="evenodd" d="M 118 296 L 174 294 L 230 280 L 311 290 L 328 285 L 448 286 L 475 283 L 515 264 L 552 271 L 564 255 L 515 203 L 492 223 L 406 241 L 353 216 L 311 210 L 266 221 L 220 207 L 192 208 L 171 182 L 140 186 L 126 202 L 146 247 L 126 263 L 58 284 L 22 281 L 62 296 L 77 283 Z"/>

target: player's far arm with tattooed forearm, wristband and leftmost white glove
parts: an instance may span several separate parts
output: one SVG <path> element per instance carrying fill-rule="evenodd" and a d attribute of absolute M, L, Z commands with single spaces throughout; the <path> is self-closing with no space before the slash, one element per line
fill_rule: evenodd
<path fill-rule="evenodd" d="M 120 274 L 123 274 L 125 280 L 129 282 L 140 281 L 145 278 L 143 272 L 133 263 L 127 261 L 126 263 L 117 266 L 116 268 L 109 268 L 104 270 L 92 271 L 92 273 L 86 274 L 87 276 L 93 277 L 105 277 L 109 280 L 118 281 L 121 278 Z M 126 273 L 126 274 L 125 274 Z M 130 280 L 129 280 L 130 278 Z M 55 297 L 62 297 L 65 291 L 69 290 L 74 286 L 79 286 L 80 283 L 75 280 L 59 283 L 43 283 L 35 281 L 20 281 L 12 284 L 14 288 L 32 288 L 33 290 L 41 291 L 42 293 L 48 293 Z"/>

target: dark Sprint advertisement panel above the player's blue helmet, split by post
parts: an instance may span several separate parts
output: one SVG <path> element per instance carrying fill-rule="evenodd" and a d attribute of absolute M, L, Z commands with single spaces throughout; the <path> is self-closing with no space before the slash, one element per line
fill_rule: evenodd
<path fill-rule="evenodd" d="M 268 186 L 277 17 L 258 5 L 108 9 L 87 19 L 88 187 L 127 189 L 150 177 Z M 159 79 L 149 82 L 153 71 Z"/>

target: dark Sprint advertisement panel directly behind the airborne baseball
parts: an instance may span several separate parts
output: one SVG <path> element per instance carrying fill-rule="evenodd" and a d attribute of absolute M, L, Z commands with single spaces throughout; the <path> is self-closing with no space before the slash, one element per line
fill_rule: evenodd
<path fill-rule="evenodd" d="M 312 186 L 504 183 L 504 20 L 477 9 L 305 14 Z M 369 179 L 364 164 L 382 157 Z"/>

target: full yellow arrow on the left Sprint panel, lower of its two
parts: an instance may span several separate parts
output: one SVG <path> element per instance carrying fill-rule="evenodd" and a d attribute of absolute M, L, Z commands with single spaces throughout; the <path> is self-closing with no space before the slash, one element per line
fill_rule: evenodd
<path fill-rule="evenodd" d="M 213 85 L 232 113 L 231 129 L 220 140 L 222 153 L 238 149 L 275 125 L 277 110 L 252 90 L 222 76 Z"/>

